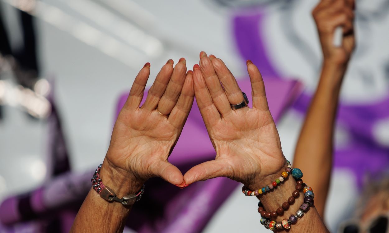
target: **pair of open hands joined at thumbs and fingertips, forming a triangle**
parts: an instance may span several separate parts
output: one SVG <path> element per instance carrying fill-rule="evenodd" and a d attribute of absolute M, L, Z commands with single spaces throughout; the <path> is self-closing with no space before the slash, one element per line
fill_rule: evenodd
<path fill-rule="evenodd" d="M 145 103 L 139 107 L 150 73 L 140 70 L 116 120 L 106 160 L 123 177 L 143 183 L 161 177 L 179 187 L 225 176 L 256 186 L 264 177 L 279 173 L 285 160 L 277 129 L 268 109 L 258 68 L 247 62 L 252 85 L 252 108 L 232 110 L 243 101 L 234 76 L 221 59 L 200 53 L 200 66 L 186 72 L 181 58 L 173 68 L 169 60 L 159 71 Z M 216 150 L 215 160 L 192 167 L 183 176 L 168 162 L 194 97 Z M 161 113 L 161 114 L 160 114 Z M 168 115 L 168 116 L 164 116 Z"/>

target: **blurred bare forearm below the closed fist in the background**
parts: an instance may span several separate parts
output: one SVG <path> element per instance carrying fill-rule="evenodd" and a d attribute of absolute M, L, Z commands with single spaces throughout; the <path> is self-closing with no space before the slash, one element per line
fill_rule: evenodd
<path fill-rule="evenodd" d="M 331 176 L 333 134 L 345 67 L 324 63 L 294 153 L 294 167 L 304 168 L 305 181 L 320 193 L 315 206 L 323 216 Z"/>

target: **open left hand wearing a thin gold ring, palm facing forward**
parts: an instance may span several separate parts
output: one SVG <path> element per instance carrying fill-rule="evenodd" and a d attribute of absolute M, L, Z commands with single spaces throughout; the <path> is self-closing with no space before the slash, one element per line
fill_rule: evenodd
<path fill-rule="evenodd" d="M 183 184 L 182 173 L 167 159 L 191 110 L 194 90 L 185 60 L 180 59 L 174 69 L 172 63 L 169 60 L 162 67 L 140 108 L 149 65 L 139 72 L 116 120 L 107 160 L 139 180 L 159 176 L 179 185 Z"/>

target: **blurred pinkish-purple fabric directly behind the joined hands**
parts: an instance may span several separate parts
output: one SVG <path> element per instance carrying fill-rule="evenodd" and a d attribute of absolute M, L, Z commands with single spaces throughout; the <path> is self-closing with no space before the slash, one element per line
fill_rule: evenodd
<path fill-rule="evenodd" d="M 238 83 L 251 101 L 250 80 L 246 78 Z M 268 80 L 265 87 L 270 111 L 277 122 L 284 109 L 300 94 L 300 84 L 293 80 Z M 119 99 L 117 114 L 127 95 L 123 94 Z M 146 96 L 142 103 L 145 98 Z M 169 162 L 184 173 L 194 165 L 214 158 L 215 150 L 195 101 Z M 154 183 L 146 184 L 142 202 L 134 206 L 129 218 L 129 226 L 139 233 L 201 232 L 214 212 L 238 185 L 225 177 L 197 182 L 184 190 L 179 190 L 161 179 L 151 182 Z M 151 217 L 149 212 L 144 212 L 142 203 L 154 203 L 154 209 L 149 211 L 156 212 L 156 216 Z M 156 206 L 159 206 L 160 210 Z"/>

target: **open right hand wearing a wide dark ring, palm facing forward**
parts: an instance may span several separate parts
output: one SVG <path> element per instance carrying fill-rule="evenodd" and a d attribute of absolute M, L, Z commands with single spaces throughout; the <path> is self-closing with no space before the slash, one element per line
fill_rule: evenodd
<path fill-rule="evenodd" d="M 184 179 L 191 184 L 225 176 L 258 188 L 286 164 L 261 74 L 254 64 L 247 63 L 253 108 L 232 110 L 230 104 L 244 99 L 235 78 L 221 59 L 207 57 L 205 52 L 200 57 L 200 66 L 195 65 L 193 73 L 195 96 L 216 159 L 191 168 Z"/>

